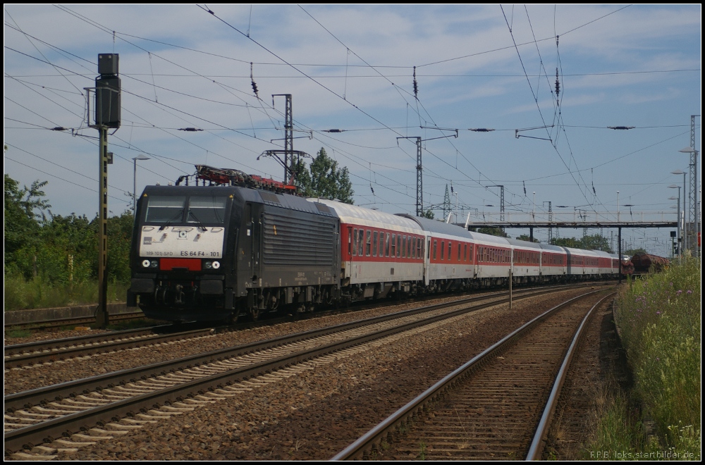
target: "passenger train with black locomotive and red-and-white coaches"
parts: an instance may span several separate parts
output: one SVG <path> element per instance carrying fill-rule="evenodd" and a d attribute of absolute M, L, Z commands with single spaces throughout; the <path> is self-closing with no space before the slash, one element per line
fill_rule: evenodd
<path fill-rule="evenodd" d="M 197 165 L 137 202 L 128 306 L 165 321 L 257 320 L 367 299 L 614 278 L 615 254 L 473 233 Z M 202 180 L 202 185 L 198 185 Z"/>

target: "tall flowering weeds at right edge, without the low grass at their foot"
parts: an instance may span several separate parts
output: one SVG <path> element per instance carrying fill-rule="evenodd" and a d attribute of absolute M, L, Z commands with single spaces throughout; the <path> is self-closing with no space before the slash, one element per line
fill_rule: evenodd
<path fill-rule="evenodd" d="M 663 446 L 700 444 L 701 269 L 685 258 L 620 292 L 615 320 L 635 376 L 632 395 Z M 692 451 L 692 449 L 690 449 Z"/>

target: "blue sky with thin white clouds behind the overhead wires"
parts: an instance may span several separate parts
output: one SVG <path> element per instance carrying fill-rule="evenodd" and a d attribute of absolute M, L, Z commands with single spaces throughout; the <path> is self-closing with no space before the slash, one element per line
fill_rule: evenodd
<path fill-rule="evenodd" d="M 283 168 L 257 157 L 282 144 L 284 100 L 273 106 L 272 94 L 293 94 L 294 148 L 325 147 L 347 166 L 358 205 L 415 213 L 415 144 L 398 137 L 422 137 L 427 207 L 452 185 L 462 218 L 497 213 L 489 186 L 504 185 L 508 213 L 547 202 L 614 212 L 620 191 L 621 211 L 675 218 L 668 186 L 682 175 L 670 172 L 687 171 L 678 150 L 701 113 L 699 5 L 209 7 L 6 4 L 4 172 L 24 185 L 48 180 L 56 214 L 96 214 L 97 130 L 86 127 L 83 89 L 97 55 L 116 53 L 114 214 L 131 204 L 139 154 L 150 160 L 138 164 L 138 192 L 192 174 L 194 163 L 281 179 Z M 668 230 L 623 234 L 670 253 Z"/>

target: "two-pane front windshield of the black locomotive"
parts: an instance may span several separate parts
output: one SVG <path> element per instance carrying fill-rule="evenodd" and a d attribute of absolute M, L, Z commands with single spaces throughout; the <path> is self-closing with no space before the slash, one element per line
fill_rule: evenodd
<path fill-rule="evenodd" d="M 226 203 L 227 198 L 220 196 L 194 195 L 187 199 L 185 195 L 154 195 L 147 198 L 145 223 L 223 224 Z"/>

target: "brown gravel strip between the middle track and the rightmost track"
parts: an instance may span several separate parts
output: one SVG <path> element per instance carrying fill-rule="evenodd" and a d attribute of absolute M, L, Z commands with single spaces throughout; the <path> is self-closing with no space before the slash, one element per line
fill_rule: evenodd
<path fill-rule="evenodd" d="M 491 307 L 301 364 L 310 369 L 58 458 L 329 459 L 502 335 L 581 292 L 515 302 L 512 312 Z"/>

